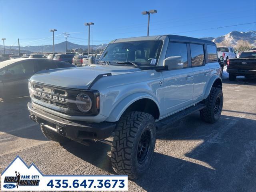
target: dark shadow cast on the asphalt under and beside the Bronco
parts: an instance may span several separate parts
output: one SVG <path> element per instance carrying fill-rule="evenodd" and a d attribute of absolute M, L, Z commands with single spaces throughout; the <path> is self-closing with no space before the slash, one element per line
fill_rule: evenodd
<path fill-rule="evenodd" d="M 183 144 L 180 141 L 202 140 L 202 143 L 177 157 L 166 155 L 174 150 L 168 142 L 170 146 L 163 146 L 168 151 L 165 154 L 154 152 L 148 171 L 133 182 L 152 192 L 253 191 L 256 188 L 255 124 L 255 120 L 224 115 L 215 124 L 206 124 L 200 121 L 198 113 L 192 114 L 158 133 L 157 140 Z M 115 174 L 108 155 L 110 146 L 96 142 L 87 147 L 71 141 L 62 147 Z"/>

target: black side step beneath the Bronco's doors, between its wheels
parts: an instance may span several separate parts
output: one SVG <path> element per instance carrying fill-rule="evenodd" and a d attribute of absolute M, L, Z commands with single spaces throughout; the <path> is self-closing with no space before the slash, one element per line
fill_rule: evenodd
<path fill-rule="evenodd" d="M 183 117 L 188 116 L 194 112 L 197 112 L 203 108 L 205 108 L 205 105 L 201 104 L 201 103 L 193 105 L 193 106 L 186 108 L 180 112 L 177 112 L 171 116 L 168 116 L 162 120 L 159 120 L 158 122 L 156 122 L 156 128 L 158 131 L 163 130 L 163 129 L 167 128 L 173 122 L 180 120 Z"/>

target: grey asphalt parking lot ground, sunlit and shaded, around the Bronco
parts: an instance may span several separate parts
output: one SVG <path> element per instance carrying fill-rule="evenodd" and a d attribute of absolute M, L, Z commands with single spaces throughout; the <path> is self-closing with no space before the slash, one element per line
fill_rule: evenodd
<path fill-rule="evenodd" d="M 129 191 L 256 190 L 256 81 L 223 80 L 220 120 L 192 114 L 157 135 L 151 167 Z M 115 174 L 110 146 L 47 140 L 28 117 L 29 97 L 0 102 L 0 171 L 19 155 L 43 174 Z"/>

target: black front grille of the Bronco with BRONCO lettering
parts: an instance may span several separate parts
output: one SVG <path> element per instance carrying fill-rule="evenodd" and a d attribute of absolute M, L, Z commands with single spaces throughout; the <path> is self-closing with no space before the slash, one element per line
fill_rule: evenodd
<path fill-rule="evenodd" d="M 37 82 L 30 82 L 30 84 L 33 94 L 31 100 L 36 104 L 67 115 L 93 116 L 99 112 L 99 109 L 96 108 L 96 96 L 99 95 L 98 91 L 60 88 Z M 82 92 L 86 92 L 92 100 L 92 109 L 87 113 L 81 112 L 74 102 L 76 100 L 76 96 Z"/>

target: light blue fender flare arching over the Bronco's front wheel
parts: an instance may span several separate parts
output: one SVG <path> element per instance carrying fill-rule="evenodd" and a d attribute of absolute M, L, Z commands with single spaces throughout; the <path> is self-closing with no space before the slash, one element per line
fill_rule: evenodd
<path fill-rule="evenodd" d="M 158 110 L 160 112 L 160 107 L 156 99 L 151 96 L 150 94 L 147 94 L 145 92 L 137 92 L 134 94 L 131 94 L 127 96 L 126 98 L 120 100 L 120 102 L 111 110 L 110 115 L 106 119 L 108 122 L 116 122 L 120 119 L 122 114 L 125 112 L 125 110 L 134 102 L 140 99 L 150 99 L 154 101 L 154 103 L 157 105 Z"/>

